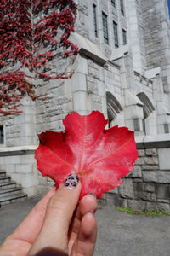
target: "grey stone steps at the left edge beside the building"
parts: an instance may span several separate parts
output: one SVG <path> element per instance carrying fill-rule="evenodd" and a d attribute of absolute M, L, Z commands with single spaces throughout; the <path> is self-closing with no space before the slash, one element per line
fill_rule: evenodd
<path fill-rule="evenodd" d="M 14 201 L 22 201 L 26 197 L 21 186 L 11 180 L 5 171 L 0 171 L 0 207 Z"/>

